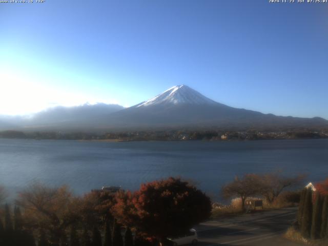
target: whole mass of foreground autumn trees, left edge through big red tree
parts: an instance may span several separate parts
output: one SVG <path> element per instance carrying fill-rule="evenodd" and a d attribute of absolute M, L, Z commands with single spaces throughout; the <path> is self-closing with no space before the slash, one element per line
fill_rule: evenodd
<path fill-rule="evenodd" d="M 134 193 L 83 197 L 66 186 L 34 183 L 19 193 L 15 207 L 0 209 L 0 245 L 155 246 L 210 214 L 210 199 L 179 178 L 145 183 Z"/>

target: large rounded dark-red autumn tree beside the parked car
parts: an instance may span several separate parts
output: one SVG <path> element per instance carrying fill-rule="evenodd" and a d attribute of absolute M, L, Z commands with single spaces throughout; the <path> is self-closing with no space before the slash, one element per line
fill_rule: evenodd
<path fill-rule="evenodd" d="M 188 232 L 211 214 L 210 198 L 179 178 L 145 183 L 116 199 L 113 213 L 121 223 L 160 242 Z"/>

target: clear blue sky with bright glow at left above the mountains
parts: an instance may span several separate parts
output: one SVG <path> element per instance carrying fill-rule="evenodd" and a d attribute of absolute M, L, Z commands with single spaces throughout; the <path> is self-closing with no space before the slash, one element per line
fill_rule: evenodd
<path fill-rule="evenodd" d="M 328 119 L 328 4 L 0 4 L 0 114 L 132 106 L 185 84 L 220 103 Z"/>

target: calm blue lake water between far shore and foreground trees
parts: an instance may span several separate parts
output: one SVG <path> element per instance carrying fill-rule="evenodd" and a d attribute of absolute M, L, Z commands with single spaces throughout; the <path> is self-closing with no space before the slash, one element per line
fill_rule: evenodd
<path fill-rule="evenodd" d="M 328 177 L 328 139 L 268 141 L 91 142 L 0 139 L 0 183 L 11 194 L 29 183 L 136 190 L 168 176 L 192 179 L 214 200 L 235 175 L 282 170 Z"/>

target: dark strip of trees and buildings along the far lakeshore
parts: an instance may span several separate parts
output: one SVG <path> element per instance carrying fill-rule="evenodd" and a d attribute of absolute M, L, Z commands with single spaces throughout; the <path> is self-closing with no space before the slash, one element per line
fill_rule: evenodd
<path fill-rule="evenodd" d="M 120 132 L 0 131 L 0 138 L 99 141 L 274 140 L 328 138 L 328 129 L 158 130 Z"/>

